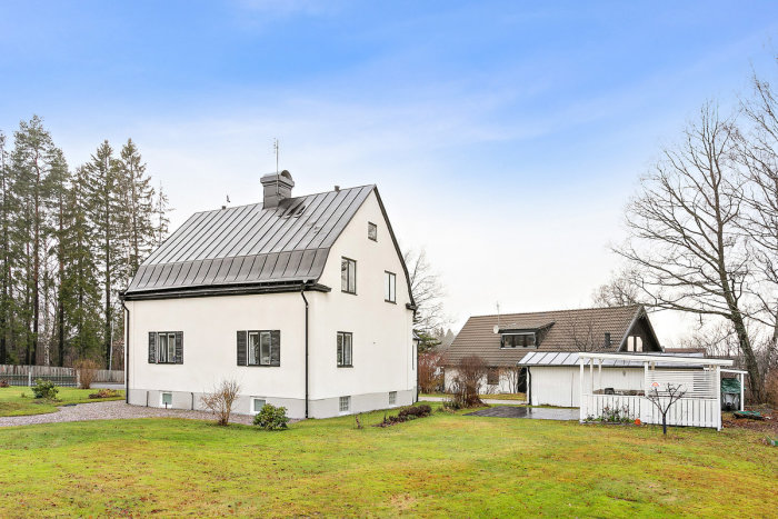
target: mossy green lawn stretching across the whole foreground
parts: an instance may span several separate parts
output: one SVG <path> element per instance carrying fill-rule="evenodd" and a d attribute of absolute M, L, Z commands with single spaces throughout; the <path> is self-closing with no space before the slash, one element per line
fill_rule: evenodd
<path fill-rule="evenodd" d="M 0 517 L 757 517 L 778 507 L 762 437 L 440 412 L 387 429 L 353 417 L 283 432 L 173 419 L 6 428 Z"/>

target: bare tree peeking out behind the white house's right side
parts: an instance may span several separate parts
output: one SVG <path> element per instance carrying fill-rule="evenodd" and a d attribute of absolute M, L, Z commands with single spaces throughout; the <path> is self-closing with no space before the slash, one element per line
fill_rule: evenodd
<path fill-rule="evenodd" d="M 432 337 L 436 329 L 449 323 L 449 318 L 443 312 L 442 282 L 432 270 L 425 249 L 406 251 L 402 259 L 408 267 L 410 290 L 417 306 L 413 326 Z"/>

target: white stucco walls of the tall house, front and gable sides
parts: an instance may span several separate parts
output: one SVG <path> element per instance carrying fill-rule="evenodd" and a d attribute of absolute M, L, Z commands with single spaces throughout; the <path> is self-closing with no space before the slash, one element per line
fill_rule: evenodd
<path fill-rule="evenodd" d="M 378 240 L 368 239 L 368 221 Z M 340 290 L 340 261 L 357 261 L 357 295 Z M 385 271 L 397 276 L 397 303 L 385 301 Z M 357 211 L 330 250 L 319 280 L 330 292 L 306 292 L 309 301 L 309 416 L 339 413 L 339 397 L 351 397 L 350 412 L 413 401 L 412 312 L 400 258 L 375 192 Z M 305 303 L 299 292 L 128 301 L 130 310 L 130 403 L 159 406 L 173 392 L 173 407 L 199 408 L 203 392 L 236 379 L 241 397 L 236 412 L 250 412 L 250 397 L 282 405 L 305 416 Z M 280 330 L 280 367 L 237 366 L 238 330 Z M 149 331 L 182 331 L 183 363 L 148 362 Z M 337 332 L 353 333 L 353 367 L 337 366 Z"/>

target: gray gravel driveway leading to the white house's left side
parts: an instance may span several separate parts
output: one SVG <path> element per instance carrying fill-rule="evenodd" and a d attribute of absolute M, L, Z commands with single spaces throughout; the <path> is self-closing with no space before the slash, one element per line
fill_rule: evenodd
<path fill-rule="evenodd" d="M 129 418 L 188 418 L 191 420 L 213 420 L 213 415 L 205 411 L 183 409 L 160 409 L 130 406 L 123 401 L 79 403 L 63 406 L 58 412 L 31 415 L 28 417 L 0 417 L 0 427 L 30 426 L 33 423 L 59 423 L 63 421 L 123 420 Z M 250 425 L 253 417 L 232 415 L 231 421 Z"/>

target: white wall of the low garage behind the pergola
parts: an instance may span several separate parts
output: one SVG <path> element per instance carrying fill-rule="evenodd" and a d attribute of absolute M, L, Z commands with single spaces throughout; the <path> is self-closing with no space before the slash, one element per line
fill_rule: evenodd
<path fill-rule="evenodd" d="M 580 406 L 580 367 L 539 367 L 530 368 L 530 399 L 532 406 Z M 595 368 L 595 388 L 614 388 L 616 390 L 644 389 L 642 368 L 602 368 L 602 382 L 599 383 Z M 589 368 L 584 378 L 590 383 Z"/>

